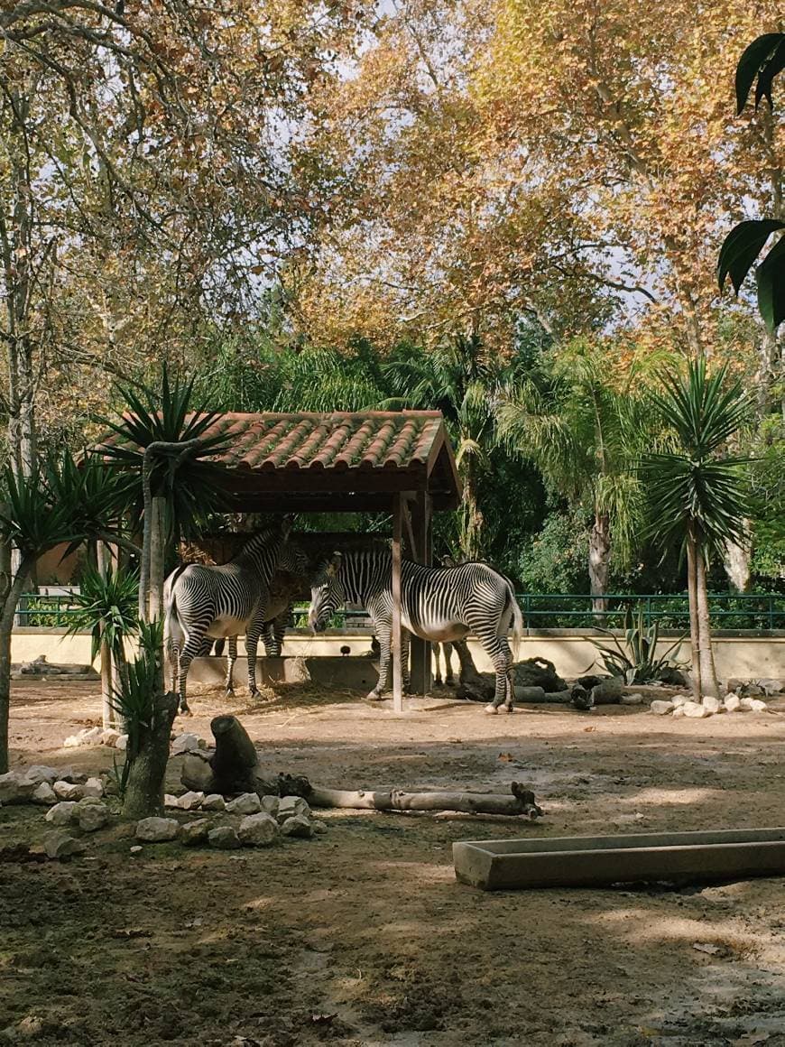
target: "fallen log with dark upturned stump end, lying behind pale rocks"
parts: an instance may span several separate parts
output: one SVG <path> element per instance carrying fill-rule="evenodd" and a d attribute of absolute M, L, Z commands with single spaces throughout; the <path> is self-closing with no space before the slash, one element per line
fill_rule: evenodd
<path fill-rule="evenodd" d="M 189 789 L 232 796 L 301 796 L 312 807 L 349 807 L 358 810 L 455 810 L 469 815 L 542 817 L 534 793 L 513 782 L 510 795 L 492 793 L 407 793 L 404 789 L 336 789 L 314 785 L 292 775 L 266 777 L 248 732 L 236 716 L 216 716 L 210 723 L 216 738 L 212 755 L 188 753 L 180 780 Z"/>

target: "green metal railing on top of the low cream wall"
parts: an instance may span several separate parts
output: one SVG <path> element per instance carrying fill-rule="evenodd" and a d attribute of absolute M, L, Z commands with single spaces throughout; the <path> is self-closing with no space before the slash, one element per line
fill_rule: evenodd
<path fill-rule="evenodd" d="M 624 626 L 628 607 L 643 611 L 646 626 L 658 622 L 661 628 L 688 629 L 690 608 L 685 594 L 610 593 L 606 596 L 607 611 L 598 617 L 591 610 L 591 597 L 567 593 L 519 593 L 524 623 L 530 629 L 580 629 L 602 625 L 618 629 Z M 712 625 L 717 629 L 785 629 L 785 594 L 782 593 L 710 593 L 709 608 Z M 297 605 L 294 624 L 308 625 L 308 607 Z M 42 595 L 25 593 L 17 611 L 22 626 L 63 628 L 77 614 L 73 597 L 68 594 Z M 333 628 L 371 626 L 363 610 L 346 610 L 330 623 Z"/>

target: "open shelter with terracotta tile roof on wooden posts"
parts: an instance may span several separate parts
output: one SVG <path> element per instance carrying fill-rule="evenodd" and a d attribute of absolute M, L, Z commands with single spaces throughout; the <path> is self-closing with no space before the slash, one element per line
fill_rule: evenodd
<path fill-rule="evenodd" d="M 392 696 L 402 709 L 401 545 L 431 562 L 431 516 L 456 509 L 461 481 L 438 410 L 221 415 L 207 461 L 237 512 L 389 512 L 392 517 Z M 112 435 L 104 446 L 122 441 Z M 412 638 L 411 683 L 430 687 L 430 647 Z"/>

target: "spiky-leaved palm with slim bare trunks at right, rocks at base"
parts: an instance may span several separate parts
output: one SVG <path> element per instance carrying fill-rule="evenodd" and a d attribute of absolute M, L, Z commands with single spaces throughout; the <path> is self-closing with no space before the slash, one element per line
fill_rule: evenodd
<path fill-rule="evenodd" d="M 671 430 L 673 448 L 645 455 L 642 474 L 657 507 L 652 536 L 664 548 L 678 544 L 687 553 L 693 692 L 699 701 L 703 694 L 718 695 L 706 566 L 727 542 L 744 541 L 749 513 L 748 460 L 723 450 L 753 404 L 738 380 L 728 381 L 727 365 L 710 375 L 703 357 L 689 363 L 687 375 L 667 371 L 660 381 L 653 402 Z"/>

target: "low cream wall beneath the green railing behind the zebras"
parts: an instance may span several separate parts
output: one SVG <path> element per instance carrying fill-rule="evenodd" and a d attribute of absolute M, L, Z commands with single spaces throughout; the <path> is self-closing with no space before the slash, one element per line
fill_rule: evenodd
<path fill-rule="evenodd" d="M 608 638 L 604 638 L 603 642 L 608 642 Z M 672 643 L 672 639 L 661 640 L 658 650 L 664 652 Z M 358 654 L 367 655 L 371 650 L 371 634 L 364 630 L 346 632 L 331 630 L 312 637 L 306 630 L 292 629 L 287 633 L 284 649 L 288 656 L 311 659 L 338 658 L 341 654 L 341 647 L 350 648 L 349 658 Z M 477 668 L 480 671 L 489 671 L 490 661 L 477 641 L 470 640 L 469 648 Z M 245 653 L 242 640 L 240 651 Z M 62 629 L 15 629 L 12 638 L 13 661 L 31 662 L 39 654 L 45 654 L 48 662 L 55 664 L 87 665 L 90 662 L 90 636 L 81 633 L 66 637 Z M 679 654 L 685 661 L 689 661 L 689 642 L 681 645 Z M 602 664 L 597 662 L 597 648 L 591 643 L 591 633 L 586 630 L 531 631 L 520 642 L 519 658 L 522 660 L 535 656 L 546 658 L 553 662 L 561 676 L 580 676 L 589 670 L 602 669 Z M 720 680 L 727 680 L 730 676 L 746 678 L 773 676 L 785 680 L 785 633 L 717 632 L 714 640 L 714 658 Z M 200 661 L 212 661 L 214 664 L 218 664 L 215 660 Z M 346 659 L 341 661 L 345 662 Z M 452 661 L 457 670 L 457 658 L 454 654 Z M 245 671 L 243 661 L 237 668 L 238 680 L 243 678 L 241 673 L 244 674 Z M 199 675 L 195 678 L 199 678 Z"/>

